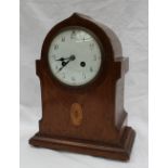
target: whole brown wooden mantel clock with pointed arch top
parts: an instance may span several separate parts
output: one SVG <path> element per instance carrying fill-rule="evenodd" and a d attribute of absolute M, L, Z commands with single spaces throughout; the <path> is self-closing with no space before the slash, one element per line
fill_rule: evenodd
<path fill-rule="evenodd" d="M 128 160 L 135 132 L 124 108 L 127 70 L 117 36 L 103 24 L 74 13 L 55 25 L 36 61 L 42 118 L 29 143 Z"/>

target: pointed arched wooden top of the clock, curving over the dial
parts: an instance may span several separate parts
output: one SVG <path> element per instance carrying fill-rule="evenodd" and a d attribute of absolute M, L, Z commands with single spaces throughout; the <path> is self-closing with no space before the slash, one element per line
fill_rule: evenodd
<path fill-rule="evenodd" d="M 74 13 L 70 17 L 56 24 L 49 31 L 43 41 L 41 57 L 47 55 L 47 47 L 52 41 L 54 35 L 56 36 L 62 29 L 70 26 L 79 26 L 92 31 L 101 41 L 103 50 L 107 52 L 113 60 L 122 56 L 121 44 L 113 30 L 87 15 Z"/>

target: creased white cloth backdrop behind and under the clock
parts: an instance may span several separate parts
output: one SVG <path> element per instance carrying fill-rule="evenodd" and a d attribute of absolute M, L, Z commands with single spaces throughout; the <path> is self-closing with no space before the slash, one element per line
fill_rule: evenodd
<path fill-rule="evenodd" d="M 21 1 L 21 168 L 147 168 L 147 0 L 22 0 Z M 90 15 L 112 28 L 129 57 L 125 83 L 128 125 L 137 131 L 131 159 L 120 163 L 81 154 L 36 148 L 28 139 L 41 118 L 40 82 L 35 60 L 47 33 L 74 12 Z"/>

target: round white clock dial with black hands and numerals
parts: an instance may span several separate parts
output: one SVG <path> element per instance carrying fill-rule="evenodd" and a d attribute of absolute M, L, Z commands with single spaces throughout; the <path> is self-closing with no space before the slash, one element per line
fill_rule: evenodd
<path fill-rule="evenodd" d="M 52 74 L 68 86 L 82 86 L 99 73 L 102 62 L 100 44 L 87 29 L 69 27 L 51 42 L 48 53 Z"/>

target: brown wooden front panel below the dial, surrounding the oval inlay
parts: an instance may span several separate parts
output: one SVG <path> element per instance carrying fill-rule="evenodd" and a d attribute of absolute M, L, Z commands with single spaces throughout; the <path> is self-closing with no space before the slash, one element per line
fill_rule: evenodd
<path fill-rule="evenodd" d="M 42 92 L 41 134 L 117 143 L 115 129 L 115 87 L 107 77 L 102 85 L 76 92 L 55 87 L 47 73 L 40 73 Z M 80 124 L 72 120 L 72 105 L 79 104 Z"/>

